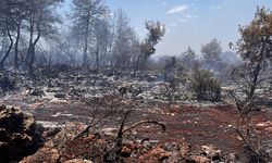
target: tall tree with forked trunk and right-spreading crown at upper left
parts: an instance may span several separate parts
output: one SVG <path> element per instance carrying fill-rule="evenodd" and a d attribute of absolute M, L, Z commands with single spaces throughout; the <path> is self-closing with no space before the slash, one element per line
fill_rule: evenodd
<path fill-rule="evenodd" d="M 37 0 L 27 1 L 27 29 L 29 35 L 26 64 L 28 73 L 34 77 L 34 61 L 35 49 L 37 42 L 42 37 L 44 39 L 51 39 L 58 33 L 57 24 L 61 23 L 60 16 L 55 14 L 54 10 L 63 0 Z"/>

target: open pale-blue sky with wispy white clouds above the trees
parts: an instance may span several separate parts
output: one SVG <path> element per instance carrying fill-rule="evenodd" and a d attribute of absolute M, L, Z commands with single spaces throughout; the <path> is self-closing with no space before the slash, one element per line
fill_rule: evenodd
<path fill-rule="evenodd" d="M 272 10 L 272 0 L 106 0 L 114 11 L 122 8 L 132 26 L 143 38 L 145 21 L 160 21 L 166 26 L 157 55 L 180 54 L 190 46 L 197 53 L 201 45 L 217 37 L 224 50 L 239 35 L 238 25 L 248 24 L 257 5 Z"/>

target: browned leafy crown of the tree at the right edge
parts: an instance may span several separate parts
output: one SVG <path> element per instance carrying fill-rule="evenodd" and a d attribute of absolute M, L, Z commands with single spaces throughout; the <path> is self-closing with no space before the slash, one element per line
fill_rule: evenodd
<path fill-rule="evenodd" d="M 250 66 L 272 61 L 272 11 L 258 7 L 255 18 L 249 25 L 240 26 L 239 33 L 237 50 Z"/>

